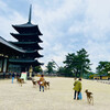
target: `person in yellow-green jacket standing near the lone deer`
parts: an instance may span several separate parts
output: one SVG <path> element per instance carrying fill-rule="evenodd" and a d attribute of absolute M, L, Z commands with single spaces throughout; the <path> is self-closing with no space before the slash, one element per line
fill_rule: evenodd
<path fill-rule="evenodd" d="M 79 78 L 74 82 L 74 90 L 75 90 L 74 99 L 76 99 L 76 95 L 77 95 L 77 100 L 78 100 L 79 99 L 78 95 L 81 91 L 81 78 Z"/>

